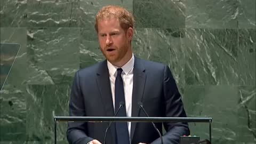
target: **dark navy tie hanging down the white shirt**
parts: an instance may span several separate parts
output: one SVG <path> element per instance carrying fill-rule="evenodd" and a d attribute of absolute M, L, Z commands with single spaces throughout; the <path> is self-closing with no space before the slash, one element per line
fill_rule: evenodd
<path fill-rule="evenodd" d="M 121 77 L 122 71 L 122 68 L 117 69 L 117 76 L 115 81 L 115 110 L 118 110 L 119 103 L 121 101 L 124 102 L 123 108 L 121 108 L 116 115 L 117 117 L 126 117 L 124 83 Z M 127 122 L 116 123 L 116 144 L 130 144 Z"/>

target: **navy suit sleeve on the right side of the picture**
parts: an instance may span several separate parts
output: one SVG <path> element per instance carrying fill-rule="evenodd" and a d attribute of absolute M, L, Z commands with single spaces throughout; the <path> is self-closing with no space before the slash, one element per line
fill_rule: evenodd
<path fill-rule="evenodd" d="M 187 117 L 183 108 L 181 95 L 168 66 L 164 66 L 163 93 L 166 117 Z M 188 123 L 164 123 L 166 133 L 163 135 L 165 144 L 179 144 L 180 136 L 189 135 Z M 158 138 L 154 142 L 161 143 Z"/>

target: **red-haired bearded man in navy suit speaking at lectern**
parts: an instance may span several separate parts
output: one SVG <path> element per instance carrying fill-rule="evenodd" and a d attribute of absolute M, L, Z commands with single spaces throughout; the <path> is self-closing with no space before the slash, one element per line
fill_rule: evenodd
<path fill-rule="evenodd" d="M 70 94 L 70 116 L 186 117 L 169 67 L 141 60 L 132 53 L 133 16 L 119 6 L 105 6 L 95 29 L 105 61 L 77 71 Z M 108 123 L 69 122 L 69 143 L 103 143 Z M 159 131 L 162 123 L 156 123 Z M 164 143 L 179 143 L 188 135 L 187 123 L 164 123 Z M 162 131 L 161 131 L 162 134 Z M 151 123 L 112 123 L 106 143 L 160 143 Z"/>

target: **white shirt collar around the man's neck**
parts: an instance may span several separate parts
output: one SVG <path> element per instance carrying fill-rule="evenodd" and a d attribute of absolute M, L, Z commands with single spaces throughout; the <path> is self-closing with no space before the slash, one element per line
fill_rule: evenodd
<path fill-rule="evenodd" d="M 119 67 L 116 67 L 116 66 L 112 65 L 109 61 L 107 61 L 107 65 L 108 65 L 109 75 L 110 76 L 116 76 L 115 73 L 116 73 L 116 70 Z M 132 54 L 132 58 L 127 63 L 125 63 L 125 65 L 123 67 L 121 67 L 123 69 L 123 73 L 125 75 L 131 73 L 132 69 L 133 69 L 133 66 L 134 66 L 134 56 Z"/>

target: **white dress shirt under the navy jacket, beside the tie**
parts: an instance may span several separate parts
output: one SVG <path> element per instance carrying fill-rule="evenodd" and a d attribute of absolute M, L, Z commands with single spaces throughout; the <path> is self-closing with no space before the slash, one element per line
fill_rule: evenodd
<path fill-rule="evenodd" d="M 109 61 L 107 61 L 108 71 L 109 71 L 109 80 L 110 80 L 110 87 L 112 92 L 112 99 L 113 99 L 113 106 L 115 109 L 115 81 L 117 76 L 117 68 L 112 65 Z M 125 98 L 125 108 L 126 108 L 126 116 L 132 116 L 132 89 L 133 89 L 133 66 L 134 66 L 134 56 L 132 54 L 132 58 L 125 63 L 121 77 L 123 78 L 124 82 L 124 98 Z M 127 122 L 129 137 L 131 140 L 131 122 Z"/>

